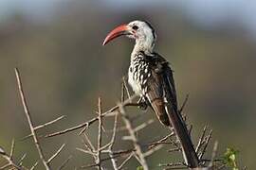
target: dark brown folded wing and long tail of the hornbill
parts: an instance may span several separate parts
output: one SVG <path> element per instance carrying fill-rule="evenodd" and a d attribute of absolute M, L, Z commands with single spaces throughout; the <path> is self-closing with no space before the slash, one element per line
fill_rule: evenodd
<path fill-rule="evenodd" d="M 158 71 L 156 72 L 156 69 L 153 69 L 152 76 L 154 78 L 151 78 L 152 81 L 148 82 L 150 90 L 147 93 L 147 98 L 160 122 L 170 128 L 171 126 L 174 127 L 174 132 L 182 147 L 184 160 L 189 167 L 196 168 L 199 160 L 187 126 L 177 109 L 173 71 L 168 62 L 161 56 L 155 54 L 155 58 Z"/>

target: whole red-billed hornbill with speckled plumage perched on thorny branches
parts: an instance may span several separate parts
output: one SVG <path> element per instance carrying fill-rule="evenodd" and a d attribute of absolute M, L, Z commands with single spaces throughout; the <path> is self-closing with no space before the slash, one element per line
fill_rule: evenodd
<path fill-rule="evenodd" d="M 128 82 L 140 96 L 139 103 L 152 107 L 164 126 L 174 127 L 186 163 L 192 168 L 197 167 L 198 158 L 191 137 L 177 109 L 173 71 L 168 61 L 154 52 L 156 36 L 153 26 L 144 21 L 118 26 L 107 35 L 103 45 L 121 35 L 136 41 L 131 54 Z"/>

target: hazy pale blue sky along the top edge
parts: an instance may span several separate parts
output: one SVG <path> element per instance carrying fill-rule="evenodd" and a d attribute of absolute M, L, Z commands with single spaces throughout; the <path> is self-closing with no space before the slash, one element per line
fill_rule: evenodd
<path fill-rule="evenodd" d="M 0 20 L 13 11 L 28 16 L 42 17 L 50 14 L 54 5 L 71 0 L 0 0 Z M 94 0 L 96 1 L 96 0 Z M 256 1 L 254 0 L 98 0 L 107 2 L 108 8 L 129 9 L 154 6 L 180 7 L 191 19 L 205 26 L 217 26 L 229 20 L 247 27 L 256 35 Z"/>

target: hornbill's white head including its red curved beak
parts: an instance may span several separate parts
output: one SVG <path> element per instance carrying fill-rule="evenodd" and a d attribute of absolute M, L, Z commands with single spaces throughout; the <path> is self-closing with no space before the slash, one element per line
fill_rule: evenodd
<path fill-rule="evenodd" d="M 137 50 L 145 52 L 153 51 L 156 36 L 154 28 L 149 23 L 133 21 L 127 25 L 118 26 L 107 35 L 103 45 L 121 35 L 126 35 L 131 39 L 135 39 Z"/>

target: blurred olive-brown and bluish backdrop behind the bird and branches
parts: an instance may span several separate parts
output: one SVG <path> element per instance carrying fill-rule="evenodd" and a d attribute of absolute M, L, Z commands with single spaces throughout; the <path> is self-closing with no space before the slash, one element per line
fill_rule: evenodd
<path fill-rule="evenodd" d="M 190 93 L 185 112 L 194 139 L 209 125 L 220 154 L 234 146 L 240 150 L 240 164 L 256 168 L 255 2 L 1 0 L 0 10 L 0 145 L 9 148 L 12 137 L 18 140 L 29 132 L 14 67 L 21 71 L 36 125 L 67 115 L 39 133 L 75 126 L 96 115 L 98 96 L 104 110 L 119 101 L 133 42 L 120 38 L 104 47 L 101 43 L 115 26 L 139 19 L 155 27 L 155 51 L 171 62 L 179 103 Z M 146 117 L 155 119 L 152 113 Z M 139 139 L 157 139 L 162 130 L 154 123 Z M 96 132 L 96 127 L 90 129 L 92 138 Z M 89 161 L 75 149 L 82 145 L 76 133 L 42 143 L 47 156 L 67 144 L 54 167 L 70 154 L 74 158 L 66 169 Z M 24 152 L 25 164 L 38 160 L 31 140 L 17 142 L 16 158 Z M 164 150 L 149 158 L 151 169 L 170 161 Z M 128 166 L 134 169 L 137 161 Z"/>

